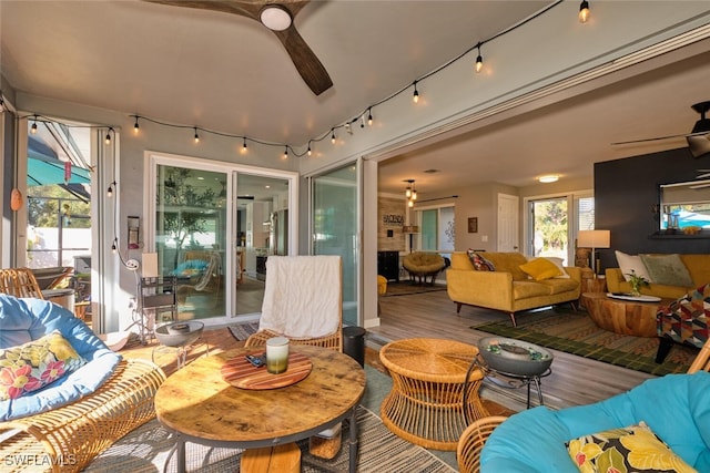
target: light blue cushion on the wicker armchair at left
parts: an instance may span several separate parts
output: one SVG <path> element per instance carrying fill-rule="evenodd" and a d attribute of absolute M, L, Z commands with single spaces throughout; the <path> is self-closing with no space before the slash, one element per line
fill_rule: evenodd
<path fill-rule="evenodd" d="M 57 409 L 94 392 L 111 377 L 121 356 L 74 315 L 41 299 L 0 294 L 0 348 L 14 347 L 59 330 L 87 363 L 45 388 L 18 399 L 0 401 L 0 421 Z"/>

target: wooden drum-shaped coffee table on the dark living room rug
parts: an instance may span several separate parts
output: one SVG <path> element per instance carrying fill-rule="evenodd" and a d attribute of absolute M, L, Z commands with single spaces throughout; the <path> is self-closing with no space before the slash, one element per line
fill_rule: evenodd
<path fill-rule="evenodd" d="M 597 327 L 620 335 L 635 337 L 658 337 L 656 313 L 671 299 L 642 302 L 613 299 L 605 292 L 585 292 L 582 304 Z"/>

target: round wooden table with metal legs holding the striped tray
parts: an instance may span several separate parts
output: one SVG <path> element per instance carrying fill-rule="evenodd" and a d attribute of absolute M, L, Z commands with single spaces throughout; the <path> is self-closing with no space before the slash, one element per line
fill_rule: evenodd
<path fill-rule="evenodd" d="M 155 414 L 175 433 L 178 471 L 185 471 L 185 442 L 260 449 L 307 439 L 349 419 L 349 471 L 356 471 L 355 410 L 365 392 L 365 371 L 335 350 L 294 346 L 313 363 L 302 381 L 271 390 L 240 389 L 222 376 L 235 357 L 263 352 L 237 348 L 200 358 L 176 371 L 155 393 Z M 266 369 L 266 368 L 264 368 Z"/>

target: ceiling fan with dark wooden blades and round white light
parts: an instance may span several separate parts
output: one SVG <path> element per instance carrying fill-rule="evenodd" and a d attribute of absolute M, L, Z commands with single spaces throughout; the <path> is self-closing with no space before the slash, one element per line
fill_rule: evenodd
<path fill-rule="evenodd" d="M 311 0 L 143 0 L 174 7 L 213 10 L 251 18 L 268 28 L 282 42 L 296 70 L 314 94 L 333 86 L 327 71 L 313 50 L 301 38 L 293 23 L 296 14 Z"/>

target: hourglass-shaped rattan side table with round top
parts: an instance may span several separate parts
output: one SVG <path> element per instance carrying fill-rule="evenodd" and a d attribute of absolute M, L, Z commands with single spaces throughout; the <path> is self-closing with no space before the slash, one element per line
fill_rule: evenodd
<path fill-rule="evenodd" d="M 383 423 L 417 445 L 455 451 L 467 418 L 488 415 L 478 395 L 484 373 L 473 369 L 465 382 L 477 354 L 477 347 L 444 339 L 415 338 L 384 346 L 379 359 L 389 370 L 393 387 L 382 403 Z"/>

